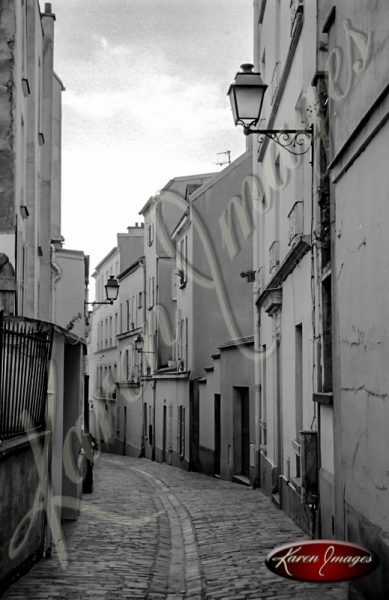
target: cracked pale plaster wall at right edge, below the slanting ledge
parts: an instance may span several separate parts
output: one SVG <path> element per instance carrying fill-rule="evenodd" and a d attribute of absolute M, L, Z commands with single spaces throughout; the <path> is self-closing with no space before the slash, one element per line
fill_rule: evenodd
<path fill-rule="evenodd" d="M 342 434 L 346 501 L 389 531 L 389 126 L 336 185 Z"/>

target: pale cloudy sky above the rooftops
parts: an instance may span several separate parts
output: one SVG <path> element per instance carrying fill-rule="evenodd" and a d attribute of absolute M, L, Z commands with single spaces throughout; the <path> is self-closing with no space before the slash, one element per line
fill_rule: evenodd
<path fill-rule="evenodd" d="M 62 233 L 93 269 L 169 179 L 220 171 L 218 152 L 244 151 L 226 92 L 252 61 L 252 0 L 52 0 L 52 10 L 66 87 Z"/>

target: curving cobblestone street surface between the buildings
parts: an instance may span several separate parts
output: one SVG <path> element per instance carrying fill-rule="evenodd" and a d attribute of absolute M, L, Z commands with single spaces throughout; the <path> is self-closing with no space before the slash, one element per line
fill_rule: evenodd
<path fill-rule="evenodd" d="M 346 584 L 278 577 L 264 564 L 301 530 L 258 490 L 197 473 L 104 454 L 94 493 L 64 525 L 58 552 L 5 594 L 7 600 L 345 600 Z"/>

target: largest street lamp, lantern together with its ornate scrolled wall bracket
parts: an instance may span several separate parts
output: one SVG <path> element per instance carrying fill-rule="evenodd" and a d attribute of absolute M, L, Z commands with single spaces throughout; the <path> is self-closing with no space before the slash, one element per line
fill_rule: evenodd
<path fill-rule="evenodd" d="M 263 83 L 260 73 L 253 72 L 254 65 L 245 63 L 240 68 L 242 70 L 236 74 L 227 92 L 235 125 L 242 125 L 245 135 L 266 135 L 291 154 L 306 154 L 312 145 L 313 125 L 308 129 L 255 129 L 268 86 Z"/>

